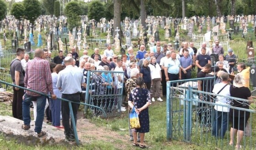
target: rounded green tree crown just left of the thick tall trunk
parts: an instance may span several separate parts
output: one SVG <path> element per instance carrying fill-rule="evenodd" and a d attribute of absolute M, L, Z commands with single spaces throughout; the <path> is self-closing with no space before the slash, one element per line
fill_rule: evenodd
<path fill-rule="evenodd" d="M 104 5 L 99 0 L 93 0 L 88 6 L 88 18 L 100 21 L 101 18 L 105 17 L 104 10 Z"/>

